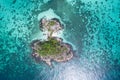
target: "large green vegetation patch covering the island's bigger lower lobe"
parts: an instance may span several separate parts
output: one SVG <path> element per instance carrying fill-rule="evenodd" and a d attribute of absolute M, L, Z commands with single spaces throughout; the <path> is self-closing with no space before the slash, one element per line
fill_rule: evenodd
<path fill-rule="evenodd" d="M 37 47 L 37 53 L 41 56 L 56 56 L 67 51 L 67 48 L 54 38 L 49 38 L 48 41 L 41 42 Z"/>

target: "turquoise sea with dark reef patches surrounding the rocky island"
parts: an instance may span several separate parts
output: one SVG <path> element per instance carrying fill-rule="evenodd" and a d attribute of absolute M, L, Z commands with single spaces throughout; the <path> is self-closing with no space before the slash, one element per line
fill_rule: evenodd
<path fill-rule="evenodd" d="M 51 12 L 76 51 L 53 67 L 30 47 L 43 39 L 40 14 Z M 0 80 L 120 80 L 120 0 L 0 0 Z"/>

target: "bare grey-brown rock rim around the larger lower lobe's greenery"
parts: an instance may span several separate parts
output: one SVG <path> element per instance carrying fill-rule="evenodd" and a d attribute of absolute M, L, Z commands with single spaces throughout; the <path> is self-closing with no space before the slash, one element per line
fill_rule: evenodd
<path fill-rule="evenodd" d="M 64 43 L 62 42 L 61 38 L 57 38 L 55 37 L 56 40 L 58 40 L 60 42 L 61 46 L 64 46 L 67 48 L 67 51 L 61 54 L 58 54 L 57 56 L 41 56 L 39 53 L 36 53 L 35 50 L 37 50 L 36 45 L 40 44 L 41 41 L 40 40 L 35 40 L 33 41 L 33 43 L 31 44 L 31 47 L 33 49 L 33 53 L 32 56 L 36 59 L 36 60 L 42 60 L 44 62 L 46 62 L 48 65 L 51 65 L 51 61 L 56 61 L 56 62 L 65 62 L 70 60 L 73 57 L 73 50 L 71 49 L 71 45 L 68 43 Z"/>

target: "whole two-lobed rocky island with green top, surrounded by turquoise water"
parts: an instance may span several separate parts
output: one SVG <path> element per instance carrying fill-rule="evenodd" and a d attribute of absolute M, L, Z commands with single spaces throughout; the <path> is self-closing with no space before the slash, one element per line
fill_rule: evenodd
<path fill-rule="evenodd" d="M 47 39 L 44 41 L 35 40 L 32 42 L 32 56 L 36 60 L 42 60 L 48 65 L 51 61 L 64 62 L 73 57 L 72 46 L 64 43 L 61 38 L 54 37 L 53 34 L 63 29 L 60 21 L 57 18 L 40 20 L 40 29 L 46 32 Z"/>

